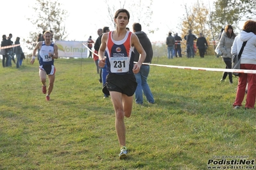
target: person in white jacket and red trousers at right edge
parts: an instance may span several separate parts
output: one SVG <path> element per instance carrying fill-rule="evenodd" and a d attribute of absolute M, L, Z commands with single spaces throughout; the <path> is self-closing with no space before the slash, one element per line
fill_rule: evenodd
<path fill-rule="evenodd" d="M 244 50 L 241 54 L 240 68 L 243 70 L 256 70 L 256 21 L 247 20 L 244 23 L 243 31 L 235 37 L 231 48 L 231 54 L 239 54 L 239 51 L 246 42 Z M 245 95 L 246 84 L 248 82 L 248 91 L 246 95 L 245 109 L 254 109 L 256 98 L 256 74 L 239 73 L 237 94 L 233 104 L 234 109 L 239 109 Z"/>

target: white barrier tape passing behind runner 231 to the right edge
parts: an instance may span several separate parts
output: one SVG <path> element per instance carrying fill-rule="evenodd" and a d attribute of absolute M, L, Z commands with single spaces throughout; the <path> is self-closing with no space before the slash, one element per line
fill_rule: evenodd
<path fill-rule="evenodd" d="M 84 45 L 84 46 L 87 47 L 87 45 Z M 87 47 L 87 49 L 90 50 L 89 47 Z M 92 50 L 90 50 L 90 52 L 92 52 L 96 56 L 99 56 L 98 54 L 94 53 Z M 137 63 L 137 62 L 133 62 L 133 63 Z M 240 69 L 227 69 L 227 68 L 203 68 L 203 67 L 194 67 L 194 66 L 156 65 L 156 64 L 149 64 L 149 63 L 142 63 L 142 65 L 164 66 L 164 67 L 168 67 L 168 68 L 181 68 L 181 69 L 187 69 L 187 70 L 200 70 L 200 71 L 212 71 L 212 72 L 256 73 L 256 70 L 240 70 Z"/>

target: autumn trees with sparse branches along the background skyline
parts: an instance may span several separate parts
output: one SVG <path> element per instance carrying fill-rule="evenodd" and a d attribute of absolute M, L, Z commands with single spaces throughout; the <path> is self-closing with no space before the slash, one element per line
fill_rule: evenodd
<path fill-rule="evenodd" d="M 148 27 L 148 33 L 153 34 L 158 29 L 157 27 L 150 29 L 151 16 L 154 13 L 151 7 L 154 1 L 157 0 L 119 0 L 115 4 L 110 4 L 105 0 L 110 25 L 114 26 L 113 15 L 117 8 L 134 6 L 134 8 L 129 8 L 130 13 Z M 195 35 L 203 33 L 208 41 L 217 41 L 221 28 L 225 27 L 226 24 L 231 24 L 234 29 L 241 29 L 238 27 L 239 21 L 255 19 L 256 1 L 216 0 L 213 4 L 213 6 L 206 6 L 200 0 L 194 4 L 183 4 L 181 8 L 185 10 L 185 15 L 180 19 L 182 20 L 181 24 L 177 26 L 177 29 L 182 30 L 182 37 L 191 29 Z M 38 33 L 42 33 L 42 30 L 53 31 L 55 40 L 67 39 L 65 19 L 69 14 L 67 10 L 64 10 L 62 3 L 59 3 L 58 0 L 36 0 L 31 8 L 35 10 L 36 15 L 28 18 L 28 20 L 36 26 L 36 31 L 31 31 L 30 37 L 26 40 L 28 49 L 33 49 L 33 42 L 37 42 Z"/>

